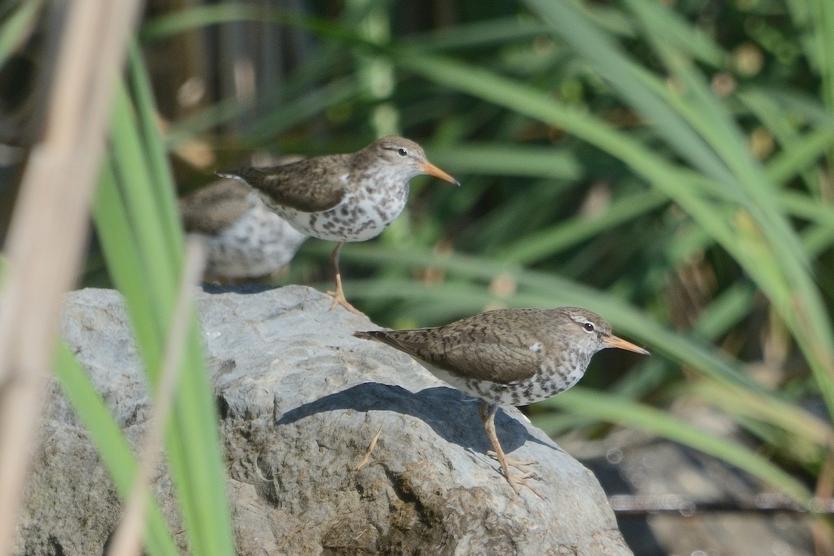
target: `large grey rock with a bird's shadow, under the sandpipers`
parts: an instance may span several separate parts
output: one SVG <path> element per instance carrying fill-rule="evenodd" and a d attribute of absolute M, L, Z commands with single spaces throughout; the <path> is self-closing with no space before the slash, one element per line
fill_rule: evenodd
<path fill-rule="evenodd" d="M 374 328 L 364 316 L 330 312 L 329 297 L 299 286 L 196 297 L 239 554 L 631 554 L 586 468 L 502 410 L 501 443 L 538 462 L 545 499 L 515 496 L 485 455 L 478 402 L 403 353 L 353 338 Z M 138 441 L 148 394 L 118 293 L 71 294 L 63 333 Z M 118 497 L 52 390 L 16 551 L 100 554 Z M 175 518 L 164 476 L 156 488 Z"/>

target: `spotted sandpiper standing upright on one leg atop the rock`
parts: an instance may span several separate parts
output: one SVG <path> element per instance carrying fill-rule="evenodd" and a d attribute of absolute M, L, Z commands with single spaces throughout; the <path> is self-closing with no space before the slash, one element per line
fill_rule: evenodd
<path fill-rule="evenodd" d="M 384 137 L 361 151 L 308 158 L 273 168 L 242 168 L 219 172 L 249 184 L 267 207 L 301 233 L 339 242 L 333 250 L 336 291 L 332 308 L 344 298 L 339 252 L 345 242 L 359 242 L 382 233 L 405 207 L 409 180 L 429 174 L 460 183 L 425 158 L 420 145 L 400 137 Z"/>

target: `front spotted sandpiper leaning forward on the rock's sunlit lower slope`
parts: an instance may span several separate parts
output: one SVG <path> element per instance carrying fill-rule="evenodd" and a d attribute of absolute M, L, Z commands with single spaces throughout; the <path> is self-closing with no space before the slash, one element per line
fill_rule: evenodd
<path fill-rule="evenodd" d="M 509 460 L 495 433 L 501 405 L 526 405 L 572 387 L 591 356 L 604 348 L 649 352 L 611 334 L 585 309 L 499 309 L 436 328 L 354 333 L 408 353 L 437 378 L 480 398 L 480 418 L 510 486 L 519 492 L 532 473 Z M 525 473 L 516 477 L 510 466 Z M 531 488 L 533 489 L 533 488 Z M 535 489 L 533 489 L 535 492 Z"/>

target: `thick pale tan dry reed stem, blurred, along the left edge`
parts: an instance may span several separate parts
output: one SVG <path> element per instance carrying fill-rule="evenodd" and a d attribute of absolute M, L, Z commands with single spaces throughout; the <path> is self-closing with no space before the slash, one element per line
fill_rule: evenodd
<path fill-rule="evenodd" d="M 137 0 L 68 4 L 43 140 L 9 228 L 0 312 L 0 556 L 10 553 L 53 362 L 63 294 L 78 275 L 113 85 Z"/>

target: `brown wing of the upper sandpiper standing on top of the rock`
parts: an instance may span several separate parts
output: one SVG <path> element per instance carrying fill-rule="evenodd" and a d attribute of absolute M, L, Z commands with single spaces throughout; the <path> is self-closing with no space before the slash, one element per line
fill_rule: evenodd
<path fill-rule="evenodd" d="M 317 160 L 310 158 L 273 168 L 241 168 L 223 175 L 242 178 L 269 198 L 264 201 L 303 213 L 317 213 L 334 208 L 345 193 L 344 182 L 334 172 L 334 165 Z"/>

